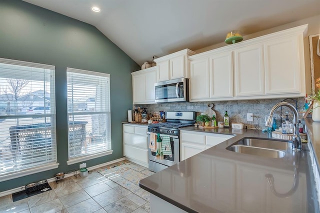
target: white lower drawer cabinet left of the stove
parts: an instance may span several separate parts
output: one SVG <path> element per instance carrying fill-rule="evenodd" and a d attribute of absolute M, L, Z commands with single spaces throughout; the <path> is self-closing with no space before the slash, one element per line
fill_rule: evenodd
<path fill-rule="evenodd" d="M 123 155 L 148 167 L 147 126 L 123 124 Z"/>

